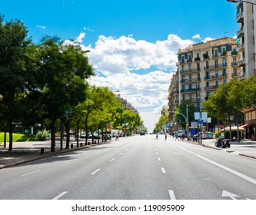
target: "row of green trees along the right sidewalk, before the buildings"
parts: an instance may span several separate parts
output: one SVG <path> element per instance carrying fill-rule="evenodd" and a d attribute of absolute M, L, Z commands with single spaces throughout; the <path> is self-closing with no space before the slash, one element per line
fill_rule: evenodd
<path fill-rule="evenodd" d="M 204 99 L 204 98 L 198 98 Z M 256 78 L 249 77 L 243 81 L 233 79 L 227 84 L 222 84 L 217 91 L 210 94 L 206 101 L 202 104 L 201 111 L 208 112 L 208 117 L 211 117 L 211 126 L 215 127 L 218 124 L 225 124 L 231 127 L 232 124 L 244 123 L 244 110 L 253 108 L 256 110 Z M 194 121 L 194 112 L 199 110 L 191 100 L 182 101 L 177 108 L 177 112 L 186 116 L 186 105 L 188 104 L 188 121 Z M 199 102 L 198 102 L 199 104 Z M 181 127 L 185 129 L 185 118 L 181 114 L 174 114 L 175 120 L 178 121 Z M 161 115 L 156 124 L 155 131 L 161 131 L 162 125 L 167 124 L 169 117 Z M 231 138 L 231 129 L 230 138 Z M 237 137 L 239 139 L 239 133 Z"/>

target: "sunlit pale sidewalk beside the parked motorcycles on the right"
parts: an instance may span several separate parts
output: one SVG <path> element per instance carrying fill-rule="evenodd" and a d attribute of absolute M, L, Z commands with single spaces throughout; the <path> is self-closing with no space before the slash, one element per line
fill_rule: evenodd
<path fill-rule="evenodd" d="M 190 143 L 198 144 L 192 141 Z M 241 142 L 231 142 L 230 148 L 219 148 L 215 147 L 216 140 L 206 139 L 202 140 L 204 147 L 211 147 L 216 150 L 226 151 L 227 153 L 238 154 L 244 157 L 250 157 L 256 159 L 256 141 L 241 141 Z"/>

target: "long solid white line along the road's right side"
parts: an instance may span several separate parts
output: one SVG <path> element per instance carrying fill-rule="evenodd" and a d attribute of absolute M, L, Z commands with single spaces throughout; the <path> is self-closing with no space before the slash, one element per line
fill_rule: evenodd
<path fill-rule="evenodd" d="M 180 146 L 177 146 L 177 147 L 180 147 Z M 203 156 L 201 156 L 201 155 L 199 155 L 199 154 L 195 154 L 194 152 L 189 151 L 189 150 L 185 149 L 184 147 L 180 147 L 180 148 L 183 149 L 183 150 L 185 150 L 185 151 L 188 151 L 188 153 L 190 153 L 190 154 L 194 154 L 194 156 L 197 156 L 197 157 L 201 158 L 202 160 L 208 161 L 209 163 L 214 164 L 214 165 L 217 166 L 217 167 L 221 167 L 222 169 L 227 170 L 227 171 L 230 172 L 231 174 L 235 174 L 236 176 L 241 177 L 241 178 L 243 178 L 244 180 L 248 180 L 248 181 L 250 181 L 252 184 L 256 184 L 256 180 L 255 180 L 254 178 L 251 178 L 251 177 L 248 177 L 247 175 L 241 174 L 241 173 L 239 173 L 238 171 L 232 170 L 232 169 L 229 168 L 229 167 L 225 167 L 225 166 L 222 165 L 222 164 L 218 164 L 217 162 L 215 162 L 215 161 L 213 161 L 213 160 L 210 160 L 210 159 L 208 159 L 208 158 L 206 158 L 206 157 L 203 157 Z"/>

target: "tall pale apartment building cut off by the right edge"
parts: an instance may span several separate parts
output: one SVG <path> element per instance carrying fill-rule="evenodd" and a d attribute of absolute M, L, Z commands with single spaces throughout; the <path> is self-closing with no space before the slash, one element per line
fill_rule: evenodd
<path fill-rule="evenodd" d="M 250 2 L 250 1 L 248 1 Z M 256 77 L 256 6 L 248 2 L 236 3 L 237 14 L 236 21 L 240 25 L 237 32 L 238 42 L 238 80 L 243 80 L 250 75 Z M 256 138 L 256 111 L 254 109 L 244 110 L 244 128 L 246 129 L 246 137 L 250 139 Z"/>

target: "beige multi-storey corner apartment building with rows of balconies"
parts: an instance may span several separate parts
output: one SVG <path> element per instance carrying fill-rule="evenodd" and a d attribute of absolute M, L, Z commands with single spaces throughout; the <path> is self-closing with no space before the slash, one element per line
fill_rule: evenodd
<path fill-rule="evenodd" d="M 169 111 L 175 111 L 181 101 L 189 99 L 199 111 L 198 97 L 203 103 L 218 86 L 238 78 L 236 39 L 219 38 L 179 49 L 177 66 L 168 92 Z"/>

